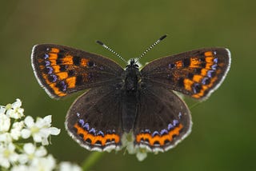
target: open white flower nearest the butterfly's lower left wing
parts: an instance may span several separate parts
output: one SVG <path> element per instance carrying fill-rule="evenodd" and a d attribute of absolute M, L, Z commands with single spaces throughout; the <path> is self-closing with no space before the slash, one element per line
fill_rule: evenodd
<path fill-rule="evenodd" d="M 22 129 L 22 137 L 28 138 L 32 136 L 35 142 L 42 142 L 42 145 L 49 145 L 47 138 L 50 135 L 58 135 L 60 133 L 60 129 L 50 127 L 50 115 L 44 118 L 38 117 L 36 122 L 34 122 L 33 117 L 27 116 L 24 123 L 26 129 Z"/>

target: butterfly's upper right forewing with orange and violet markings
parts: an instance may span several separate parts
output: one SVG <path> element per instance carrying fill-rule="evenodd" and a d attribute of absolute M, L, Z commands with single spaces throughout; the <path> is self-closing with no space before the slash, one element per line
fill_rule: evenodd
<path fill-rule="evenodd" d="M 157 59 L 141 73 L 145 84 L 161 85 L 201 100 L 218 88 L 229 68 L 229 50 L 206 48 Z"/>

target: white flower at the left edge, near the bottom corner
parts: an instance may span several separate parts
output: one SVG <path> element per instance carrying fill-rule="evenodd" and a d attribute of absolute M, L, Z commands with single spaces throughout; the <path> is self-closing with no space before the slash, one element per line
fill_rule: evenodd
<path fill-rule="evenodd" d="M 10 167 L 10 163 L 18 161 L 18 153 L 15 152 L 14 144 L 0 145 L 0 165 L 6 169 Z"/>

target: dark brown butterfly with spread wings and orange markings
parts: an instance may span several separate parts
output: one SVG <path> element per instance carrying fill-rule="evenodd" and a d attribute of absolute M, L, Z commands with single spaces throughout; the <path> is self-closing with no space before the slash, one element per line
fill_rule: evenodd
<path fill-rule="evenodd" d="M 66 129 L 79 145 L 97 151 L 122 149 L 122 136 L 131 133 L 135 148 L 164 152 L 182 141 L 192 126 L 190 109 L 174 91 L 196 100 L 209 97 L 226 77 L 230 51 L 191 50 L 156 59 L 139 70 L 136 59 L 123 69 L 98 54 L 40 44 L 33 47 L 31 61 L 50 97 L 86 89 L 66 114 Z"/>

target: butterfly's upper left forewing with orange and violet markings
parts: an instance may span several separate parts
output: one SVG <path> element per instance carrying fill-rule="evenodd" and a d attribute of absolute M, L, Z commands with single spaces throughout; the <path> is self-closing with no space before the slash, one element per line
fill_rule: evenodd
<path fill-rule="evenodd" d="M 31 59 L 39 84 L 54 98 L 112 83 L 123 71 L 108 58 L 67 46 L 36 45 Z"/>

